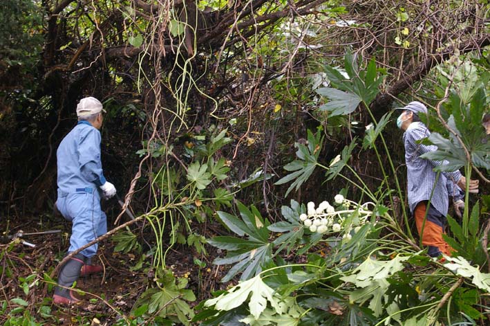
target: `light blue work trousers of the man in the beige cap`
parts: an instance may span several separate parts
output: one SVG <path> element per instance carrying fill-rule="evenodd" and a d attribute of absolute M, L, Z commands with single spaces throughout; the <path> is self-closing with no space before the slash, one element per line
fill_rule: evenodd
<path fill-rule="evenodd" d="M 63 217 L 73 223 L 68 253 L 107 233 L 107 217 L 100 208 L 100 195 L 93 192 L 61 194 L 58 190 L 56 206 Z M 97 244 L 80 251 L 85 257 L 97 253 Z"/>

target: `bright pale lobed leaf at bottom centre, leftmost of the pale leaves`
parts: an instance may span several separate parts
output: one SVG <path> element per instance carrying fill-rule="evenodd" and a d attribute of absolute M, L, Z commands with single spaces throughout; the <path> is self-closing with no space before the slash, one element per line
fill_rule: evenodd
<path fill-rule="evenodd" d="M 281 298 L 274 294 L 274 289 L 263 282 L 260 275 L 238 283 L 226 293 L 218 296 L 218 298 L 207 300 L 205 302 L 205 307 L 214 306 L 214 309 L 216 310 L 228 311 L 242 305 L 249 296 L 248 307 L 250 309 L 250 314 L 252 314 L 255 319 L 258 319 L 259 316 L 261 316 L 262 312 L 267 307 L 267 302 L 270 302 L 270 305 L 272 305 L 274 309 L 281 309 L 279 305 Z"/>

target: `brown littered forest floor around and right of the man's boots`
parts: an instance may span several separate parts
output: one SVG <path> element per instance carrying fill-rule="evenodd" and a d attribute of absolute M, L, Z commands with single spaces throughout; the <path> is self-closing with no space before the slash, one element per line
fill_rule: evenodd
<path fill-rule="evenodd" d="M 26 219 L 22 220 L 25 223 Z M 108 226 L 110 228 L 111 224 L 109 223 Z M 52 325 L 49 323 L 90 325 L 91 320 L 97 318 L 92 325 L 98 325 L 97 321 L 100 321 L 100 325 L 113 325 L 121 318 L 120 314 L 128 316 L 129 312 L 136 308 L 134 307 L 136 300 L 147 289 L 148 284 L 153 282 L 155 273 L 151 269 L 149 258 L 145 260 L 142 268 L 135 270 L 134 266 L 139 260 L 138 255 L 115 251 L 116 244 L 109 239 L 100 244 L 97 258 L 93 259 L 93 264 L 104 266 L 104 273 L 79 278 L 76 284 L 76 288 L 82 290 L 77 293 L 77 297 L 82 301 L 71 307 L 55 305 L 51 302 L 53 289 L 51 286 L 45 286 L 46 278 L 42 275 L 50 275 L 66 254 L 69 246 L 70 224 L 62 217 L 45 219 L 42 223 L 39 219 L 32 218 L 30 223 L 23 225 L 12 219 L 8 221 L 0 219 L 0 230 L 3 233 L 1 235 L 3 241 L 0 242 L 0 309 L 3 302 L 7 302 L 6 311 L 12 311 L 17 305 L 12 304 L 11 300 L 21 298 L 28 302 L 28 306 L 24 308 L 30 310 L 30 316 L 36 316 L 37 322 L 48 322 L 47 325 Z M 32 233 L 46 230 L 61 230 L 61 233 L 30 235 L 22 238 L 26 242 L 35 244 L 35 248 L 20 242 L 12 242 L 6 237 L 19 231 Z M 205 257 L 197 255 L 188 246 L 174 246 L 168 251 L 167 269 L 170 269 L 177 278 L 188 278 L 187 288 L 196 294 L 196 302 L 189 302 L 191 306 L 209 298 L 211 291 L 225 287 L 225 284 L 220 283 L 219 280 L 223 278 L 226 271 L 212 264 L 216 255 L 218 255 L 216 252 L 209 253 L 209 251 Z M 196 257 L 205 262 L 205 266 L 195 264 Z M 39 277 L 28 279 L 30 275 L 39 275 Z M 28 288 L 23 286 L 26 279 L 39 280 L 38 286 Z M 56 275 L 53 280 L 56 280 Z M 50 307 L 51 316 L 47 316 L 46 320 L 41 320 L 39 314 L 39 307 L 43 305 Z M 8 318 L 7 314 L 0 316 L 1 325 L 6 318 Z"/>

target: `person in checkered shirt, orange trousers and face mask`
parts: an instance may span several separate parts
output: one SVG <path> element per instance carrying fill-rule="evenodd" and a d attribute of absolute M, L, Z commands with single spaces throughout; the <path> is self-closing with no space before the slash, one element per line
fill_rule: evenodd
<path fill-rule="evenodd" d="M 420 116 L 427 115 L 427 107 L 421 102 L 410 102 L 402 109 L 397 126 L 404 131 L 405 161 L 408 182 L 408 206 L 415 217 L 422 244 L 428 246 L 428 255 L 451 255 L 453 248 L 442 238 L 446 226 L 449 197 L 453 197 L 456 215 L 464 209 L 461 189 L 466 188 L 466 178 L 459 171 L 441 172 L 437 176 L 434 167 L 447 162 L 422 159 L 426 152 L 437 150 L 435 145 L 423 145 L 420 141 L 431 135 Z M 470 180 L 469 192 L 478 192 L 478 180 Z M 430 200 L 430 202 L 429 202 Z"/>

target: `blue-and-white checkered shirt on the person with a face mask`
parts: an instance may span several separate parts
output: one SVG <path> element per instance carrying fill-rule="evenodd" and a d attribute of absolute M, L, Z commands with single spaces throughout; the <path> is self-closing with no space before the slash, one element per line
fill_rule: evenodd
<path fill-rule="evenodd" d="M 428 201 L 434 188 L 431 203 L 438 212 L 446 216 L 449 208 L 449 197 L 453 197 L 455 201 L 462 199 L 462 190 L 456 185 L 460 180 L 461 173 L 459 171 L 441 172 L 437 183 L 435 183 L 437 172 L 434 172 L 434 167 L 448 162 L 420 158 L 426 152 L 437 150 L 435 145 L 417 143 L 417 141 L 430 135 L 431 132 L 428 131 L 427 127 L 419 122 L 411 123 L 403 134 L 408 181 L 408 206 L 413 213 L 417 203 Z"/>

